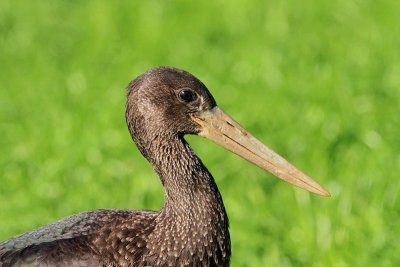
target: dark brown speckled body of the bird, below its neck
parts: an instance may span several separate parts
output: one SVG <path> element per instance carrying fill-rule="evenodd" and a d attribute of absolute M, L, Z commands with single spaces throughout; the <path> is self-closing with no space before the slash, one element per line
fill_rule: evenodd
<path fill-rule="evenodd" d="M 208 240 L 194 225 L 165 232 L 165 218 L 163 211 L 80 213 L 6 241 L 0 266 L 228 266 L 228 236 Z M 184 239 L 191 242 L 182 248 Z"/>

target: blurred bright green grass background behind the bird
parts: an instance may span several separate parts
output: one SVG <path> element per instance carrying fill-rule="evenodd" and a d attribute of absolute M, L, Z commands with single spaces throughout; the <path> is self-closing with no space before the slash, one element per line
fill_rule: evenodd
<path fill-rule="evenodd" d="M 0 240 L 97 208 L 159 209 L 125 87 L 188 70 L 332 193 L 199 137 L 232 266 L 400 265 L 399 1 L 0 1 Z"/>

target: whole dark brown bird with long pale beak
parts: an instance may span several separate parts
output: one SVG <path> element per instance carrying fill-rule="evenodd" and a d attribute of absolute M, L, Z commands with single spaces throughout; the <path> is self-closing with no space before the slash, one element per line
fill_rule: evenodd
<path fill-rule="evenodd" d="M 227 212 L 185 140 L 210 139 L 278 178 L 330 193 L 240 126 L 187 71 L 155 67 L 127 87 L 126 123 L 164 187 L 158 211 L 82 212 L 0 243 L 0 266 L 229 266 Z"/>

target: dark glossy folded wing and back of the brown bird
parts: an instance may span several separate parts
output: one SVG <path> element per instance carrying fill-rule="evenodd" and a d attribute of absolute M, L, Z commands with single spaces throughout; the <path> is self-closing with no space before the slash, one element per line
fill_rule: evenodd
<path fill-rule="evenodd" d="M 82 212 L 0 243 L 0 266 L 95 266 L 101 251 L 94 243 L 124 227 L 136 231 L 155 216 L 120 209 Z"/>

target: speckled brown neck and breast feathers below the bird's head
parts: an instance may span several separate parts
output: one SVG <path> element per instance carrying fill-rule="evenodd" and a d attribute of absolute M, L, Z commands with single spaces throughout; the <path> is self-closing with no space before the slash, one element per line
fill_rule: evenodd
<path fill-rule="evenodd" d="M 161 262 L 169 258 L 173 266 L 228 266 L 228 218 L 212 176 L 184 140 L 159 146 L 153 164 L 165 205 L 148 237 L 149 254 Z"/>

